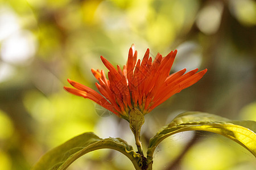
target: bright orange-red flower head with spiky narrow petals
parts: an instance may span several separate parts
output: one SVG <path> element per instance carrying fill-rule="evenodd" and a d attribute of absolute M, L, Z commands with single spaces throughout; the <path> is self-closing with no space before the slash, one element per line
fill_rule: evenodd
<path fill-rule="evenodd" d="M 196 73 L 198 69 L 185 73 L 186 69 L 170 75 L 170 70 L 177 50 L 166 57 L 157 54 L 154 61 L 147 49 L 144 57 L 137 61 L 137 50 L 134 45 L 129 49 L 128 60 L 123 69 L 117 69 L 104 57 L 101 60 L 108 68 L 108 78 L 103 70 L 92 69 L 98 92 L 83 84 L 68 79 L 75 88 L 64 87 L 71 94 L 93 100 L 119 117 L 129 121 L 131 109 L 138 108 L 143 114 L 152 111 L 159 104 L 184 88 L 192 86 L 207 72 L 207 69 Z M 185 74 L 184 74 L 185 73 Z"/>

